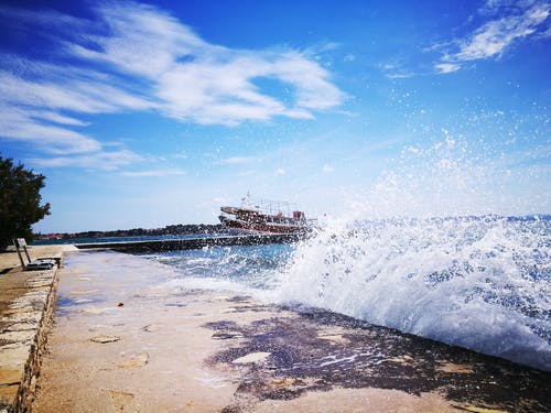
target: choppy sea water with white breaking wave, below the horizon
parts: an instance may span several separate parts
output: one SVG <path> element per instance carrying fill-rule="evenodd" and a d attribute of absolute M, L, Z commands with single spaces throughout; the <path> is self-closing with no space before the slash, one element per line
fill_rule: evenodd
<path fill-rule="evenodd" d="M 145 256 L 171 290 L 314 306 L 551 370 L 551 219 L 327 219 L 294 244 Z"/>

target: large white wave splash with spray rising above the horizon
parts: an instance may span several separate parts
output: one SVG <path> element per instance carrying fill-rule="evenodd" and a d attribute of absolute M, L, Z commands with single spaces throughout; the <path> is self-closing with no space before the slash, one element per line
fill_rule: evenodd
<path fill-rule="evenodd" d="M 505 192 L 530 176 L 444 134 L 301 243 L 279 300 L 551 370 L 551 220 L 504 217 L 549 197 Z"/>

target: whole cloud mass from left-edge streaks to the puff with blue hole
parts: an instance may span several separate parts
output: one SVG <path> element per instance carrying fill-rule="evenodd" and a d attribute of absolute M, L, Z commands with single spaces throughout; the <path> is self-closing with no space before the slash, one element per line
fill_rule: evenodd
<path fill-rule="evenodd" d="M 100 113 L 147 110 L 182 122 L 236 126 L 310 119 L 345 98 L 307 52 L 210 44 L 170 13 L 137 2 L 102 2 L 93 11 L 95 20 L 0 7 L 6 22 L 46 41 L 48 61 L 60 62 L 0 54 L 0 108 L 10 108 L 0 115 L 0 139 L 63 155 L 43 165 L 80 161 L 88 167 L 90 157 L 116 154 L 101 137 L 83 132 Z M 287 84 L 293 98 L 268 94 L 258 86 L 261 78 Z"/>

